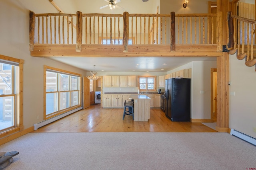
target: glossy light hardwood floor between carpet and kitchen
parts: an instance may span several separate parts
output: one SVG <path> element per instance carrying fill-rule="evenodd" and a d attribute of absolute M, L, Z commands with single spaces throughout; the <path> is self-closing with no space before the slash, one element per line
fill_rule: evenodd
<path fill-rule="evenodd" d="M 217 132 L 202 123 L 173 122 L 160 109 L 150 109 L 147 122 L 134 122 L 130 115 L 123 120 L 123 111 L 93 105 L 34 132 Z"/>

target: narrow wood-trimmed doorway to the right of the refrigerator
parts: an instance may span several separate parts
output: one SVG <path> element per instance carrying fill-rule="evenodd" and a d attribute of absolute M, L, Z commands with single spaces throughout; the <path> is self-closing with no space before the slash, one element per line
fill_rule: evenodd
<path fill-rule="evenodd" d="M 211 122 L 217 121 L 217 68 L 211 68 Z"/>

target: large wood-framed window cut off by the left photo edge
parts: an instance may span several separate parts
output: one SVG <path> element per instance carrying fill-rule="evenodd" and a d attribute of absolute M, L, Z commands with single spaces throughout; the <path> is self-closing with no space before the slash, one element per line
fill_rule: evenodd
<path fill-rule="evenodd" d="M 0 134 L 20 131 L 23 60 L 0 55 Z"/>

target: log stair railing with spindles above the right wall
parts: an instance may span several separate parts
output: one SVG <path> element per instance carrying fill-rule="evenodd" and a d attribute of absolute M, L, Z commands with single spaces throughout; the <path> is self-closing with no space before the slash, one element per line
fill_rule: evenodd
<path fill-rule="evenodd" d="M 256 64 L 256 39 L 255 25 L 256 21 L 228 12 L 228 40 L 227 47 L 231 54 L 236 53 L 239 60 L 246 59 L 247 66 Z"/>

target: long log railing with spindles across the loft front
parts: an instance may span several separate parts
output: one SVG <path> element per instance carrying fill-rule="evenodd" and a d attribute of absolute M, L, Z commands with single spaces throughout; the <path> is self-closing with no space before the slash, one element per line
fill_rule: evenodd
<path fill-rule="evenodd" d="M 30 46 L 70 45 L 206 45 L 216 44 L 216 14 L 34 14 L 30 12 Z"/>

